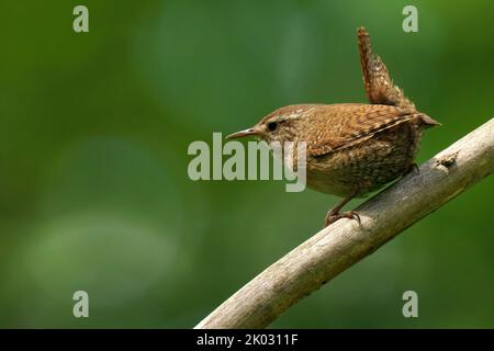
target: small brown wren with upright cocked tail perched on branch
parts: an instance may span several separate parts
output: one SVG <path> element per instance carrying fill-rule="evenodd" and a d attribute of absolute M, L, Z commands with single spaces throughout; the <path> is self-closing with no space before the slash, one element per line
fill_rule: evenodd
<path fill-rule="evenodd" d="M 249 135 L 268 143 L 305 141 L 307 185 L 343 196 L 330 210 L 325 226 L 339 218 L 352 197 L 363 196 L 413 168 L 422 133 L 440 125 L 405 98 L 393 84 L 379 56 L 372 53 L 369 33 L 358 29 L 363 83 L 370 104 L 296 104 L 276 110 L 254 127 L 227 138 Z"/>

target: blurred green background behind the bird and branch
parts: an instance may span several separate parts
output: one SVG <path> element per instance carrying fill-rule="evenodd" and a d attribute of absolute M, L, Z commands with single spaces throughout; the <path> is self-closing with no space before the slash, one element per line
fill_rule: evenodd
<path fill-rule="evenodd" d="M 88 34 L 72 31 L 76 4 Z M 418 33 L 402 31 L 406 4 Z M 287 104 L 366 101 L 366 25 L 444 124 L 422 162 L 492 117 L 493 14 L 492 1 L 2 1 L 0 327 L 192 327 L 338 199 L 193 182 L 189 144 Z M 272 327 L 494 327 L 493 190 L 484 180 Z M 418 318 L 402 316 L 407 290 Z"/>

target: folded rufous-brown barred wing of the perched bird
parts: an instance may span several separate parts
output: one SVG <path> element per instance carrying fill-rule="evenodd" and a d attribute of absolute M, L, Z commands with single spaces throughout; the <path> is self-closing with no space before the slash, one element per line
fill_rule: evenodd
<path fill-rule="evenodd" d="M 390 105 L 330 105 L 315 118 L 324 125 L 310 138 L 307 151 L 317 157 L 362 143 L 377 133 L 419 116 L 413 110 Z"/>

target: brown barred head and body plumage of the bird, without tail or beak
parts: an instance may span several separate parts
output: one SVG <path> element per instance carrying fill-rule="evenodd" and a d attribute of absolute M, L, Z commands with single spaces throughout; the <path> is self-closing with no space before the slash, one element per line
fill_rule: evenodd
<path fill-rule="evenodd" d="M 307 185 L 339 196 L 363 195 L 406 172 L 429 117 L 378 104 L 302 104 L 281 107 L 259 125 L 266 141 L 305 141 Z"/>

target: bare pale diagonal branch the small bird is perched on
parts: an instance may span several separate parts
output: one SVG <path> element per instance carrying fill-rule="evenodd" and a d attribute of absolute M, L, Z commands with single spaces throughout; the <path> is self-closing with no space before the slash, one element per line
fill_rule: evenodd
<path fill-rule="evenodd" d="M 494 170 L 494 118 L 266 269 L 195 328 L 263 328 L 299 299 Z"/>

